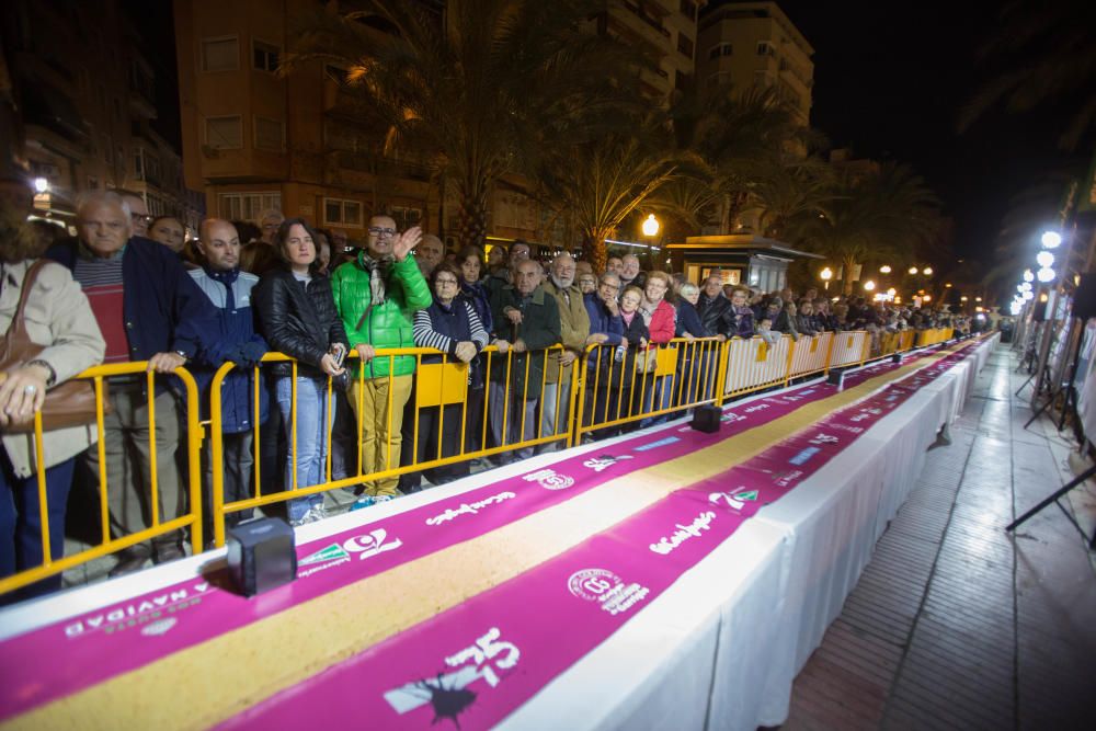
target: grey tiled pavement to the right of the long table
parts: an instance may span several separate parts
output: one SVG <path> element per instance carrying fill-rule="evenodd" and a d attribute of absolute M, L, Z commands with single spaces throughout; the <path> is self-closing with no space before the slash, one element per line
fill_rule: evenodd
<path fill-rule="evenodd" d="M 1084 468 L 1015 390 L 1000 345 L 822 646 L 783 727 L 1096 728 L 1096 560 L 1051 505 L 1004 527 Z M 1069 494 L 1092 535 L 1096 488 Z"/>

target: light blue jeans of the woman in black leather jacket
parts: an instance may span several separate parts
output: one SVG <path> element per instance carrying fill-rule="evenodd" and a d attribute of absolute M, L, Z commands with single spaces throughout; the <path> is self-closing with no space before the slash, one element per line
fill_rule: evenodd
<path fill-rule="evenodd" d="M 275 384 L 278 411 L 285 424 L 287 454 L 285 489 L 293 490 L 293 377 L 283 376 Z M 334 418 L 334 399 L 331 416 Z M 297 377 L 297 487 L 308 488 L 326 479 L 328 457 L 328 385 L 326 379 Z M 323 494 L 289 501 L 289 521 L 299 521 L 310 507 L 322 507 Z"/>

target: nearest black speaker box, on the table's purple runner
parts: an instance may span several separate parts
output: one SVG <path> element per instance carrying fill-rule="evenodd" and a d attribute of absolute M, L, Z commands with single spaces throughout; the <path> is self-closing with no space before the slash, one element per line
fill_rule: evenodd
<path fill-rule="evenodd" d="M 264 517 L 229 528 L 228 570 L 244 596 L 262 594 L 297 578 L 293 528 L 285 521 Z"/>

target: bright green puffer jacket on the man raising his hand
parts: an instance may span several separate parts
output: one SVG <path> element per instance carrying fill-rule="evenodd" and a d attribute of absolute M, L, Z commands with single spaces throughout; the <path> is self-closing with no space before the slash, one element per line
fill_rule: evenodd
<path fill-rule="evenodd" d="M 385 275 L 385 301 L 369 310 L 369 316 L 362 320 L 362 315 L 373 299 L 369 289 L 369 272 L 362 264 L 365 252 L 359 252 L 357 260 L 346 262 L 331 275 L 331 294 L 335 299 L 335 309 L 342 318 L 343 327 L 350 339 L 350 346 L 367 343 L 377 350 L 383 347 L 414 347 L 414 313 L 430 307 L 432 298 L 430 286 L 419 271 L 414 256 L 408 255 L 402 262 L 393 261 Z M 358 328 L 358 322 L 362 327 Z M 366 378 L 388 376 L 389 363 L 393 358 L 377 357 L 365 366 Z M 414 373 L 413 355 L 395 358 L 393 376 L 410 376 Z M 359 362 L 350 361 L 350 370 L 357 377 Z"/>

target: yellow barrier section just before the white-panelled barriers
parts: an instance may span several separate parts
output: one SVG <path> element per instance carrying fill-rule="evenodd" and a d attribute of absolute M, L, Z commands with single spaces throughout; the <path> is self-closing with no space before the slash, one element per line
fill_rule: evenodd
<path fill-rule="evenodd" d="M 576 438 L 721 401 L 724 345 L 716 338 L 675 338 L 648 349 L 590 345 Z"/>

